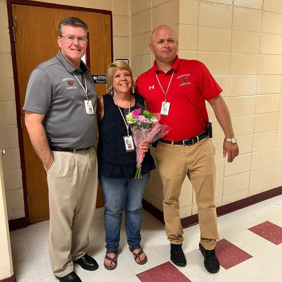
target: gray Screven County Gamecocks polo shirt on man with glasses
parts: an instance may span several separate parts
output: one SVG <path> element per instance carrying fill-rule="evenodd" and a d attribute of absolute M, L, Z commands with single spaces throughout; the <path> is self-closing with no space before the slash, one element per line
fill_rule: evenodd
<path fill-rule="evenodd" d="M 97 140 L 97 93 L 89 68 L 83 61 L 80 67 L 82 70 L 77 70 L 59 51 L 29 76 L 23 109 L 45 115 L 42 123 L 50 145 L 80 149 L 94 145 Z M 94 115 L 86 113 L 85 92 L 72 72 L 82 85 L 85 74 Z"/>

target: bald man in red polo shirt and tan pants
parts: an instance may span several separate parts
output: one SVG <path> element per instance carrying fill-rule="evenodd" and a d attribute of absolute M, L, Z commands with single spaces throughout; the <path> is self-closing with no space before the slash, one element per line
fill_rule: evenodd
<path fill-rule="evenodd" d="M 215 148 L 207 129 L 209 118 L 205 100 L 212 106 L 225 139 L 223 156 L 232 162 L 239 154 L 228 108 L 207 67 L 197 60 L 179 59 L 176 33 L 169 26 L 157 27 L 151 36 L 150 49 L 154 66 L 137 78 L 140 93 L 153 113 L 161 113 L 171 130 L 158 142 L 156 159 L 164 186 L 164 221 L 170 245 L 170 259 L 186 266 L 182 251 L 183 230 L 180 223 L 179 195 L 189 177 L 198 205 L 201 230 L 199 249 L 210 273 L 219 271 L 215 254 L 217 231 L 215 205 Z M 211 134 L 210 134 L 211 135 Z"/>

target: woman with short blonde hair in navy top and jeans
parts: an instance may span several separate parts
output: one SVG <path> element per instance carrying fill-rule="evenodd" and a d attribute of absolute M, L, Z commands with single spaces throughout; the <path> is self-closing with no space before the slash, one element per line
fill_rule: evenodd
<path fill-rule="evenodd" d="M 138 264 L 147 262 L 140 241 L 142 223 L 142 198 L 155 169 L 149 143 L 141 143 L 145 154 L 142 178 L 136 174 L 134 141 L 125 115 L 137 108 L 147 108 L 145 100 L 133 94 L 135 82 L 127 63 L 117 61 L 108 67 L 106 89 L 109 94 L 98 98 L 97 117 L 99 141 L 97 147 L 98 176 L 105 199 L 106 256 L 104 266 L 113 270 L 117 266 L 117 248 L 120 241 L 122 212 L 125 210 L 127 243 Z"/>

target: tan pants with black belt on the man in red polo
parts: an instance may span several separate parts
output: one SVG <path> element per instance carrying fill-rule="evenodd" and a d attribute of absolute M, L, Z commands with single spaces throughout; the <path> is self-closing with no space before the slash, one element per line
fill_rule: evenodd
<path fill-rule="evenodd" d="M 179 195 L 188 176 L 195 194 L 199 213 L 201 244 L 207 250 L 219 239 L 215 206 L 215 148 L 209 137 L 190 145 L 158 142 L 156 159 L 164 186 L 164 221 L 167 239 L 172 244 L 184 240 L 180 223 Z"/>

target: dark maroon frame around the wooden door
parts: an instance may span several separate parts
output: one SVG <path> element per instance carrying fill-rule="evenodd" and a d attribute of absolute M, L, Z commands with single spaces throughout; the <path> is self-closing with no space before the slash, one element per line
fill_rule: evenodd
<path fill-rule="evenodd" d="M 30 223 L 29 211 L 28 211 L 28 200 L 27 200 L 26 166 L 25 166 L 25 157 L 24 157 L 24 137 L 23 137 L 23 130 L 21 128 L 22 127 L 21 125 L 21 104 L 20 104 L 20 93 L 19 93 L 19 83 L 18 83 L 18 69 L 17 69 L 17 62 L 16 62 L 16 46 L 15 46 L 15 42 L 13 39 L 13 29 L 12 29 L 13 27 L 12 4 L 38 6 L 38 7 L 44 7 L 44 8 L 63 9 L 63 10 L 69 10 L 69 11 L 80 11 L 80 12 L 90 12 L 90 13 L 109 15 L 110 22 L 111 22 L 111 44 L 112 44 L 111 55 L 112 55 L 112 61 L 113 61 L 113 14 L 112 14 L 112 11 L 83 8 L 83 7 L 77 7 L 77 6 L 67 6 L 67 5 L 52 4 L 52 3 L 44 3 L 44 2 L 30 1 L 30 0 L 7 0 L 9 35 L 10 35 L 10 44 L 11 44 L 12 67 L 13 67 L 15 100 L 16 100 L 16 116 L 17 116 L 19 150 L 20 150 L 20 160 L 21 160 L 21 174 L 22 174 L 22 182 L 23 182 L 23 190 L 24 190 L 24 212 L 25 212 L 25 217 L 9 220 L 10 231 L 26 227 Z"/>

